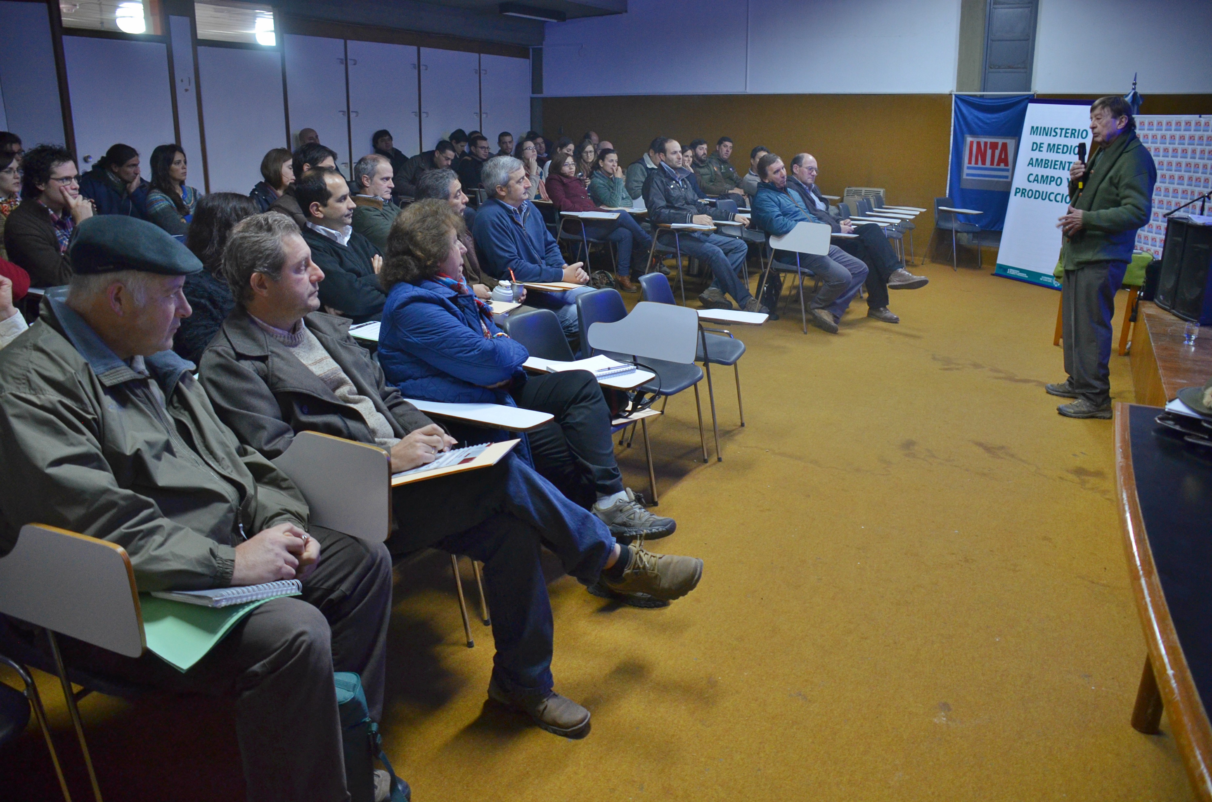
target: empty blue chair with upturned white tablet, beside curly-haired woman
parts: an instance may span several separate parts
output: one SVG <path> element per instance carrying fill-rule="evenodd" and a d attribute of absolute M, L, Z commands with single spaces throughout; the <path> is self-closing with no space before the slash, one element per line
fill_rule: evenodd
<path fill-rule="evenodd" d="M 641 327 L 645 321 L 650 319 L 651 308 L 665 308 L 665 304 L 653 304 L 640 302 L 636 304 L 636 309 L 644 307 L 646 309 L 645 314 L 636 317 L 628 325 L 628 331 L 634 327 Z M 673 307 L 680 311 L 684 311 L 684 320 L 693 320 L 693 328 L 691 330 L 690 338 L 690 353 L 682 354 L 676 348 L 671 346 L 669 343 L 661 342 L 663 337 L 669 336 L 664 326 L 656 326 L 647 332 L 646 336 L 636 336 L 635 338 L 628 338 L 625 342 L 628 345 L 623 349 L 614 349 L 610 345 L 604 345 L 601 343 L 616 342 L 613 339 L 600 339 L 596 340 L 599 344 L 594 344 L 595 340 L 590 339 L 589 332 L 598 323 L 618 323 L 625 319 L 635 315 L 627 314 L 627 307 L 623 305 L 623 297 L 618 294 L 617 290 L 595 290 L 593 292 L 587 292 L 577 297 L 577 319 L 581 323 L 581 342 L 583 349 L 583 356 L 593 356 L 594 354 L 605 354 L 611 359 L 616 359 L 621 362 L 635 362 L 644 368 L 652 371 L 657 374 L 657 378 L 641 384 L 636 388 L 640 393 L 651 394 L 657 397 L 664 399 L 664 405 L 669 403 L 669 396 L 678 395 L 682 390 L 694 388 L 694 411 L 698 413 L 698 437 L 699 443 L 703 447 L 703 462 L 707 462 L 707 434 L 703 430 L 703 407 L 698 397 L 698 383 L 703 380 L 703 368 L 694 365 L 694 351 L 696 346 L 693 343 L 698 339 L 698 313 L 693 309 L 687 309 L 686 307 Z M 676 327 L 675 327 L 676 328 Z M 679 332 L 681 333 L 681 332 Z M 642 340 L 647 338 L 647 343 Z M 685 359 L 682 359 L 685 357 Z M 707 366 L 708 373 L 708 386 L 710 386 L 710 367 Z M 664 406 L 662 406 L 662 412 Z M 714 411 L 713 411 L 714 412 Z M 711 426 L 715 430 L 715 453 L 716 458 L 720 458 L 720 428 L 715 420 L 715 416 L 711 416 Z"/>

